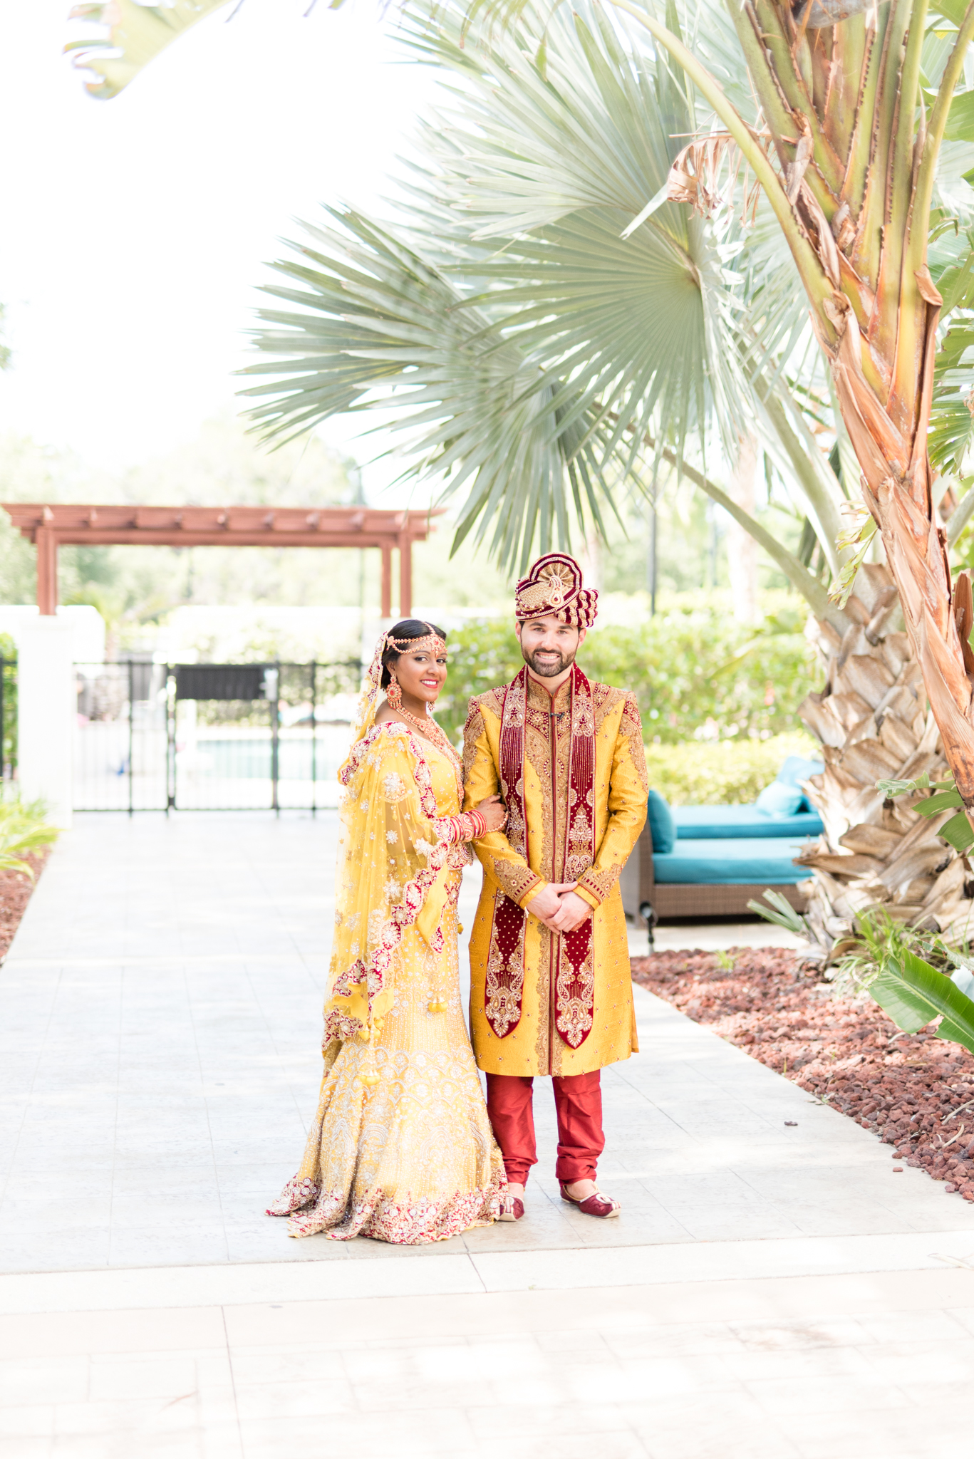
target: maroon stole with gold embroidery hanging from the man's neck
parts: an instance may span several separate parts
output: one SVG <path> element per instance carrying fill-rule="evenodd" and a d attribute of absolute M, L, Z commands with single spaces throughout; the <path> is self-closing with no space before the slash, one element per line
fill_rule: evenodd
<path fill-rule="evenodd" d="M 570 677 L 571 750 L 568 766 L 568 805 L 559 807 L 565 827 L 565 881 L 575 881 L 596 855 L 594 779 L 596 725 L 591 687 L 577 664 Z M 524 808 L 524 724 L 527 716 L 527 667 L 515 676 L 504 694 L 501 715 L 499 772 L 501 794 L 507 804 L 507 839 L 529 861 L 527 816 Z M 553 776 L 555 747 L 549 732 Z M 553 795 L 555 786 L 545 786 Z M 555 807 L 552 804 L 552 824 Z M 553 874 L 553 868 L 552 868 Z M 504 1039 L 521 1018 L 524 994 L 524 928 L 527 912 L 504 891 L 494 894 L 494 924 L 486 967 L 486 1020 Z M 551 934 L 555 964 L 555 1029 L 572 1049 L 588 1037 L 594 1013 L 594 959 L 591 918 L 574 932 Z"/>

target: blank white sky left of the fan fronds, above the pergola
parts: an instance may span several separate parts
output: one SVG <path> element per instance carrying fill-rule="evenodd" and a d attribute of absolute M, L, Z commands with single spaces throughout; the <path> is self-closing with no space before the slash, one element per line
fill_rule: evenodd
<path fill-rule="evenodd" d="M 120 468 L 234 407 L 263 261 L 323 201 L 375 207 L 432 90 L 375 0 L 307 9 L 229 6 L 110 102 L 61 54 L 69 0 L 4 9 L 0 430 Z"/>

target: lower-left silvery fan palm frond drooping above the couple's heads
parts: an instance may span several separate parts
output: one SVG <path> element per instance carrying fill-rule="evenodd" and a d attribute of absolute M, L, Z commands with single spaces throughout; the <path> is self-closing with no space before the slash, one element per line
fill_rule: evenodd
<path fill-rule="evenodd" d="M 307 229 L 305 263 L 276 266 L 301 287 L 267 292 L 299 312 L 261 311 L 257 343 L 272 359 L 247 374 L 276 378 L 245 390 L 253 419 L 289 439 L 337 411 L 391 406 L 415 471 L 444 476 L 447 495 L 467 489 L 459 540 L 483 516 L 504 562 L 521 562 L 536 534 L 543 547 L 568 540 L 565 474 L 575 514 L 600 521 L 597 413 L 552 403 L 518 343 L 495 340 L 489 315 L 397 236 L 329 212 L 336 226 Z"/>

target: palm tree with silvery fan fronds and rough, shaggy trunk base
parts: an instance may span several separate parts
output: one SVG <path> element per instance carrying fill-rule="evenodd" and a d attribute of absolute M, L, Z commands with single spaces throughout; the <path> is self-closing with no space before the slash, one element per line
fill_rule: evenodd
<path fill-rule="evenodd" d="M 724 57 L 726 89 L 743 105 L 733 32 L 723 12 L 713 19 L 711 64 Z M 640 55 L 596 10 L 556 16 L 542 47 L 530 23 L 466 45 L 442 7 L 434 26 L 409 28 L 416 54 L 456 79 L 423 131 L 428 165 L 409 179 L 402 222 L 331 212 L 277 266 L 288 283 L 272 292 L 288 308 L 263 314 L 256 419 L 285 438 L 339 410 L 391 410 L 413 470 L 464 493 L 459 534 L 476 531 L 513 565 L 533 541 L 565 540 L 572 506 L 600 522 L 640 463 L 691 477 L 770 552 L 818 626 L 827 687 L 805 715 L 827 760 L 827 832 L 808 858 L 822 948 L 878 903 L 956 926 L 971 900 L 964 862 L 936 836 L 945 817 L 883 807 L 875 791 L 879 778 L 943 773 L 889 570 L 863 565 L 840 607 L 704 468 L 714 422 L 727 454 L 742 423 L 758 422 L 838 579 L 844 492 L 789 385 L 803 309 L 770 210 L 743 231 L 730 212 L 717 226 L 666 201 L 678 160 L 685 188 L 694 174 L 717 188 L 707 155 L 683 155 L 701 115 L 660 48 Z M 815 374 L 815 360 L 800 369 Z M 848 463 L 841 432 L 840 445 Z"/>

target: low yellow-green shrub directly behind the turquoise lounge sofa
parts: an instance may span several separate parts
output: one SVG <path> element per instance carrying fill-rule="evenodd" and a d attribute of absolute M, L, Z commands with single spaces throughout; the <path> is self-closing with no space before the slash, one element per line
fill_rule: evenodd
<path fill-rule="evenodd" d="M 650 785 L 670 805 L 748 805 L 771 783 L 789 754 L 813 757 L 818 746 L 805 734 L 647 744 L 645 766 Z"/>

